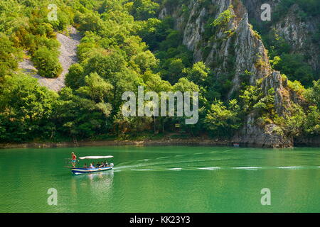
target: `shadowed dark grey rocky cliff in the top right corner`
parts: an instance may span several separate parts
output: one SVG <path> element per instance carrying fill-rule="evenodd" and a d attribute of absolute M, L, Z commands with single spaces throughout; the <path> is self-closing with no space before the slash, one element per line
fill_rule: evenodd
<path fill-rule="evenodd" d="M 308 64 L 314 70 L 320 69 L 320 49 L 319 43 L 314 42 L 316 33 L 319 32 L 319 15 L 308 15 L 298 4 L 292 4 L 284 14 L 277 18 L 274 13 L 281 0 L 242 0 L 249 17 L 259 26 L 270 26 L 268 30 L 276 32 L 292 47 L 292 53 L 301 54 L 306 57 Z M 271 21 L 266 23 L 260 20 L 261 5 L 270 4 L 272 9 Z M 319 78 L 318 78 L 319 79 Z"/>

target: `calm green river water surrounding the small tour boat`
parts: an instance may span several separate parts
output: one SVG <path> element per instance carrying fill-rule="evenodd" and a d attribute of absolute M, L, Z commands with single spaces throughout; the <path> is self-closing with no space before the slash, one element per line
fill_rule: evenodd
<path fill-rule="evenodd" d="M 320 148 L 90 147 L 114 170 L 72 175 L 70 148 L 0 150 L 1 212 L 319 212 Z M 48 189 L 58 192 L 48 205 Z M 262 206 L 263 188 L 271 205 Z"/>

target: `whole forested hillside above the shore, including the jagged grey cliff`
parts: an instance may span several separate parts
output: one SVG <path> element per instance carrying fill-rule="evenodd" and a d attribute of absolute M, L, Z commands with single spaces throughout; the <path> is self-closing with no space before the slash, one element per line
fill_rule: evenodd
<path fill-rule="evenodd" d="M 259 1 L 253 2 L 1 0 L 0 143 L 175 132 L 287 147 L 317 138 L 319 1 L 272 4 L 274 19 L 266 23 L 254 13 Z M 57 20 L 48 18 L 50 4 L 58 6 Z M 318 28 L 304 28 L 300 49 L 281 32 L 290 9 L 299 11 L 297 24 L 318 21 Z M 78 63 L 54 92 L 23 74 L 18 62 L 28 52 L 41 77 L 59 77 L 56 36 L 69 26 L 82 35 Z M 122 94 L 137 93 L 138 86 L 158 94 L 199 92 L 198 123 L 186 125 L 185 116 L 123 116 Z"/>

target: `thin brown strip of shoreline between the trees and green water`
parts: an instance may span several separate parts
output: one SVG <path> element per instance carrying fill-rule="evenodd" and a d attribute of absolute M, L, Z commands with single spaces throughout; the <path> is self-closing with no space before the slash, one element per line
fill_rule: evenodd
<path fill-rule="evenodd" d="M 302 141 L 300 141 L 302 142 Z M 305 141 L 304 141 L 305 142 Z M 316 142 L 316 141 L 314 141 Z M 238 144 L 238 145 L 234 145 Z M 199 146 L 230 146 L 240 148 L 274 148 L 270 145 L 257 144 L 257 143 L 241 143 L 232 140 L 218 140 L 218 139 L 202 139 L 202 138 L 168 138 L 159 140 L 80 140 L 78 145 L 72 141 L 69 142 L 29 142 L 29 143 L 0 143 L 0 149 L 9 148 L 80 148 L 88 146 L 122 146 L 122 145 L 135 145 L 135 146 L 165 146 L 165 145 L 199 145 Z M 319 147 L 319 143 L 294 143 L 294 147 Z"/>

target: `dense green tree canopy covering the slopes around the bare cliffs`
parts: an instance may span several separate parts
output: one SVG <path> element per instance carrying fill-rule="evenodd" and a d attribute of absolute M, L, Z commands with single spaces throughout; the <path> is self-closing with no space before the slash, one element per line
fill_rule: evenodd
<path fill-rule="evenodd" d="M 58 6 L 58 21 L 48 20 L 48 4 Z M 71 135 L 134 138 L 166 131 L 228 138 L 252 111 L 260 113 L 262 125 L 276 123 L 288 135 L 319 135 L 319 81 L 311 86 L 314 74 L 309 65 L 285 51 L 274 62 L 274 68 L 289 79 L 310 85 L 305 89 L 298 81 L 289 81 L 288 86 L 308 101 L 308 106 L 292 106 L 290 118 L 274 113 L 272 90 L 266 95 L 259 87 L 243 83 L 240 95 L 228 100 L 230 78 L 218 78 L 205 63 L 193 62 L 193 52 L 182 44 L 173 18 L 157 18 L 161 4 L 173 2 L 2 0 L 0 142 L 68 140 Z M 65 88 L 57 94 L 16 73 L 26 50 L 41 76 L 58 77 L 62 69 L 55 33 L 70 25 L 78 28 L 82 40 L 79 61 L 70 67 Z M 185 117 L 124 117 L 122 94 L 137 94 L 139 86 L 158 94 L 199 92 L 198 123 L 186 125 Z M 175 128 L 176 123 L 181 127 Z"/>

